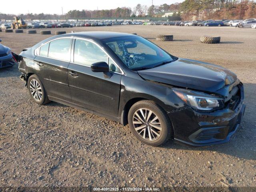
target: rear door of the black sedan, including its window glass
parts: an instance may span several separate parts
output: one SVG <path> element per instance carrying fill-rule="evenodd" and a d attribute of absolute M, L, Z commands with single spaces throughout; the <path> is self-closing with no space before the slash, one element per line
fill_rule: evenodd
<path fill-rule="evenodd" d="M 52 40 L 36 50 L 34 68 L 47 95 L 71 102 L 67 69 L 70 63 L 72 38 Z"/>

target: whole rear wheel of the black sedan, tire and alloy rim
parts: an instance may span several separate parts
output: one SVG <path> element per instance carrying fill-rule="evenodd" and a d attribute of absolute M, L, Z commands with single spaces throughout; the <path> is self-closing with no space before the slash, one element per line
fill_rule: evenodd
<path fill-rule="evenodd" d="M 37 104 L 44 105 L 50 102 L 44 86 L 38 76 L 31 75 L 28 78 L 28 91 L 32 100 L 34 100 L 34 102 L 36 102 Z"/>

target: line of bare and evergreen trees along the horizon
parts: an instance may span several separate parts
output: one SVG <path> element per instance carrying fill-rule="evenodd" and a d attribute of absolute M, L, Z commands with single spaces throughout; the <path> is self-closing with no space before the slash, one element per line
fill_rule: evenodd
<path fill-rule="evenodd" d="M 173 12 L 173 16 L 182 16 L 183 20 L 198 19 L 246 19 L 256 18 L 256 3 L 252 0 L 184 0 L 182 3 L 146 6 L 137 4 L 130 7 L 118 7 L 110 10 L 70 10 L 59 14 L 20 14 L 23 19 L 83 19 L 83 18 L 129 18 L 160 17 Z M 0 19 L 11 20 L 14 14 L 1 14 Z"/>

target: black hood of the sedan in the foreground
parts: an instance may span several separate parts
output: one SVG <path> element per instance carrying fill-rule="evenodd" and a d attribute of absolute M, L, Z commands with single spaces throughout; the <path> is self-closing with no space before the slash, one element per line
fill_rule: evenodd
<path fill-rule="evenodd" d="M 237 80 L 236 74 L 221 66 L 182 58 L 138 74 L 148 81 L 207 92 L 218 92 Z"/>

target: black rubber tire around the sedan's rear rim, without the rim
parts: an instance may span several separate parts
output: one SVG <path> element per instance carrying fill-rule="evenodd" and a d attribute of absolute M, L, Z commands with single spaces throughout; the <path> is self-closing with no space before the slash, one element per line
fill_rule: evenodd
<path fill-rule="evenodd" d="M 42 90 L 42 98 L 41 98 L 39 101 L 34 98 L 34 96 L 32 95 L 32 93 L 31 93 L 31 91 L 30 91 L 30 82 L 31 82 L 32 80 L 36 80 L 36 81 L 39 83 L 40 87 L 41 87 L 41 90 Z M 29 92 L 29 95 L 30 95 L 31 99 L 32 99 L 34 102 L 36 102 L 37 104 L 39 104 L 39 105 L 44 105 L 44 104 L 50 102 L 50 100 L 48 99 L 48 96 L 47 96 L 47 94 L 46 94 L 46 91 L 45 91 L 45 89 L 44 89 L 44 86 L 43 86 L 42 82 L 40 81 L 40 79 L 39 79 L 38 76 L 36 76 L 36 75 L 31 75 L 31 76 L 28 78 L 28 92 Z"/>

